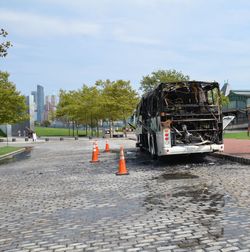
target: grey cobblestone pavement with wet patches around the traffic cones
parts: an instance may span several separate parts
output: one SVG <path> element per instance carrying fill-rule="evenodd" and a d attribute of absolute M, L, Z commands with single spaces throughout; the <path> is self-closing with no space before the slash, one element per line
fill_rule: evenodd
<path fill-rule="evenodd" d="M 129 176 L 114 175 L 121 143 Z M 0 250 L 250 251 L 248 166 L 152 161 L 134 144 L 91 164 L 89 140 L 47 142 L 1 164 Z"/>

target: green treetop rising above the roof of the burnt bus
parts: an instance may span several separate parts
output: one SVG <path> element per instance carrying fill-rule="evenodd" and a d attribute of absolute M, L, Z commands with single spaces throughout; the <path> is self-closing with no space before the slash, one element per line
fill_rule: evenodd
<path fill-rule="evenodd" d="M 142 77 L 140 89 L 148 92 L 162 82 L 188 81 L 189 76 L 176 70 L 158 70 Z"/>

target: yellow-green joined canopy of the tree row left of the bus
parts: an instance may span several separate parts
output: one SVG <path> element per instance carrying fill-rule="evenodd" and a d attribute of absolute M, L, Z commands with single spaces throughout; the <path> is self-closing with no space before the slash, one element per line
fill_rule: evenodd
<path fill-rule="evenodd" d="M 138 95 L 129 81 L 97 81 L 95 86 L 76 91 L 60 91 L 57 117 L 76 125 L 97 126 L 100 119 L 111 121 L 127 118 L 138 103 Z"/>

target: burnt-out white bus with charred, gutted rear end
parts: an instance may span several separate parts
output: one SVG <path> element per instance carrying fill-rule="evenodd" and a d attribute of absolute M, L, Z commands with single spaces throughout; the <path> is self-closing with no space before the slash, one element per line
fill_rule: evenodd
<path fill-rule="evenodd" d="M 137 146 L 153 156 L 223 151 L 217 82 L 161 83 L 136 110 Z"/>

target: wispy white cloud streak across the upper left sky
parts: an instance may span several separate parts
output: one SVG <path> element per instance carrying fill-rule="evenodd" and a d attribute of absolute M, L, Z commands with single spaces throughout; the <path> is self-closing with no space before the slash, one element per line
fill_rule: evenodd
<path fill-rule="evenodd" d="M 100 25 L 96 23 L 7 9 L 0 9 L 0 21 L 24 36 L 94 36 L 100 31 Z"/>

